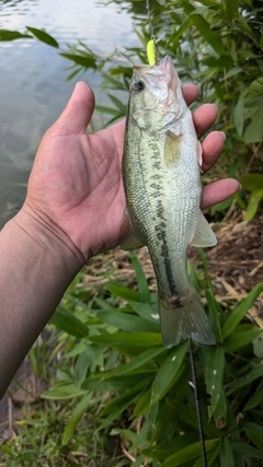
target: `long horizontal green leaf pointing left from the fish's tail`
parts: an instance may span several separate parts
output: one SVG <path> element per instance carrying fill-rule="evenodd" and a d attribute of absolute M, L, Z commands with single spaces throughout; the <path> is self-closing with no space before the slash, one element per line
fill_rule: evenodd
<path fill-rule="evenodd" d="M 118 332 L 89 336 L 89 340 L 100 346 L 116 347 L 152 347 L 162 343 L 162 337 L 158 332 Z"/>

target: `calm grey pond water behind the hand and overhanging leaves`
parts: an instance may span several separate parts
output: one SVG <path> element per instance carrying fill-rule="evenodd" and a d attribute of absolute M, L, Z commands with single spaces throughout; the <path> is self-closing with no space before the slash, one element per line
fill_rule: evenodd
<path fill-rule="evenodd" d="M 115 47 L 138 45 L 125 2 L 102 0 L 0 0 L 0 28 L 45 28 L 59 46 L 82 40 L 110 55 Z M 33 157 L 46 129 L 65 107 L 75 83 L 87 81 L 99 93 L 100 75 L 88 71 L 66 81 L 71 65 L 56 48 L 38 40 L 0 42 L 0 227 L 21 206 Z"/>

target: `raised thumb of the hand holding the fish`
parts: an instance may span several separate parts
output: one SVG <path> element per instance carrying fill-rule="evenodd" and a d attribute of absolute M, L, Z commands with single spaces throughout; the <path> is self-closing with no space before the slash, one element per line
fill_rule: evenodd
<path fill-rule="evenodd" d="M 76 84 L 73 93 L 56 121 L 65 135 L 84 133 L 94 110 L 94 94 L 88 84 L 80 81 Z"/>

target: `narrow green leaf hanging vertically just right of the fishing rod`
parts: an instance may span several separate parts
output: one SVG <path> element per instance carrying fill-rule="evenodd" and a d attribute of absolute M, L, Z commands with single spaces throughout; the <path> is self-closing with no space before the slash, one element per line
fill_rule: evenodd
<path fill-rule="evenodd" d="M 225 353 L 221 347 L 207 352 L 205 381 L 207 393 L 210 394 L 209 418 L 217 408 L 222 389 Z"/>

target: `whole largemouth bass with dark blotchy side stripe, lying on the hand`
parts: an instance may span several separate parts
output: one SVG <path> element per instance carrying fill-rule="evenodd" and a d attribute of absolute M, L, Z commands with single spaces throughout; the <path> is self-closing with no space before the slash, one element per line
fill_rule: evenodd
<path fill-rule="evenodd" d="M 148 246 L 165 347 L 188 337 L 215 343 L 186 267 L 190 245 L 217 242 L 199 209 L 201 164 L 202 147 L 172 59 L 135 66 L 123 160 L 127 208 L 121 246 Z"/>

